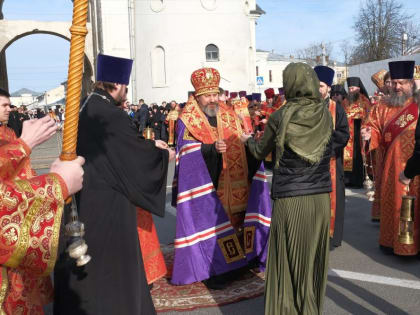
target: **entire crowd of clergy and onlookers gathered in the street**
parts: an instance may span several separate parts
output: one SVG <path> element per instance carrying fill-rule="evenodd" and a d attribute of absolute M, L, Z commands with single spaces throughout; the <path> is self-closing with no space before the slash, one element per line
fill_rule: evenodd
<path fill-rule="evenodd" d="M 420 67 L 413 61 L 373 74 L 372 97 L 358 77 L 347 78 L 346 91 L 333 84 L 333 69 L 291 63 L 284 86 L 267 89 L 263 102 L 259 93 L 223 90 L 218 70 L 201 68 L 191 75 L 187 102 L 161 106 L 127 102 L 132 60 L 100 54 L 97 67 L 80 110 L 75 162 L 56 161 L 44 177 L 30 167 L 31 149 L 57 131 L 52 115 L 23 122 L 20 136 L 1 127 L 0 240 L 10 248 L 2 281 L 21 277 L 23 284 L 6 286 L 6 313 L 40 312 L 51 301 L 45 276 L 57 258 L 55 314 L 154 314 L 150 287 L 167 267 L 151 213 L 165 214 L 170 161 L 173 285 L 202 281 L 220 290 L 250 269 L 265 270 L 265 314 L 321 314 L 329 252 L 343 240 L 345 186 L 372 180 L 381 250 L 419 253 L 417 203 L 412 217 L 400 217 L 402 200 L 420 197 Z M 10 121 L 10 96 L 0 92 L 0 118 Z M 65 198 L 79 190 L 93 257 L 84 267 L 66 254 L 71 240 L 61 220 Z M 11 225 L 10 213 L 22 207 Z M 41 232 L 31 229 L 39 222 L 31 218 L 48 209 Z M 21 244 L 29 242 L 20 237 L 28 227 L 32 237 L 50 237 L 46 248 Z M 19 246 L 27 250 L 17 258 Z"/>

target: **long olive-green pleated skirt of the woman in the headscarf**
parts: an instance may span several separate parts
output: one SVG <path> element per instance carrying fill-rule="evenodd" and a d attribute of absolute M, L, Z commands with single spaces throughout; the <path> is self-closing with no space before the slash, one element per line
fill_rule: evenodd
<path fill-rule="evenodd" d="M 330 196 L 274 201 L 265 314 L 321 314 L 327 285 Z"/>

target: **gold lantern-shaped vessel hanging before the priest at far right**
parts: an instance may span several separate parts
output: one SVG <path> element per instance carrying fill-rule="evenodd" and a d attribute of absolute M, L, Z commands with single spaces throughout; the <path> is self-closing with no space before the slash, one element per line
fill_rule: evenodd
<path fill-rule="evenodd" d="M 400 226 L 398 230 L 398 241 L 404 245 L 414 244 L 414 201 L 416 197 L 409 196 L 410 188 L 405 187 L 406 194 L 402 196 L 400 211 Z"/>

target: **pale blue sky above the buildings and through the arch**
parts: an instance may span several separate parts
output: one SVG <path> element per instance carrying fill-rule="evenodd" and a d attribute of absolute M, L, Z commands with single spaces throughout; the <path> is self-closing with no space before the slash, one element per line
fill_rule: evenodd
<path fill-rule="evenodd" d="M 173 0 L 176 1 L 176 0 Z M 191 0 L 198 1 L 198 0 Z M 219 0 L 230 1 L 230 0 Z M 401 0 L 410 14 L 417 13 L 420 1 Z M 257 48 L 293 55 L 311 43 L 332 42 L 334 58 L 341 60 L 340 43 L 354 40 L 353 18 L 359 0 L 257 0 L 266 11 L 258 20 Z M 6 19 L 70 21 L 70 0 L 5 0 Z M 9 89 L 22 87 L 43 92 L 66 80 L 69 42 L 50 35 L 31 35 L 14 42 L 6 50 Z"/>

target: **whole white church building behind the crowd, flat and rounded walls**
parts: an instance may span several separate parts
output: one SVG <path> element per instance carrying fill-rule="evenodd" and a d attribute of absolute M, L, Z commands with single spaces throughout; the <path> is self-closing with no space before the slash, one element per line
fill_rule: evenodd
<path fill-rule="evenodd" d="M 257 90 L 256 0 L 94 2 L 100 51 L 135 60 L 133 103 L 185 102 L 200 67 L 218 69 L 225 90 Z"/>

